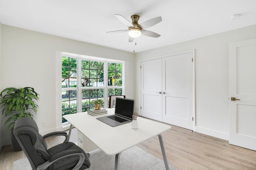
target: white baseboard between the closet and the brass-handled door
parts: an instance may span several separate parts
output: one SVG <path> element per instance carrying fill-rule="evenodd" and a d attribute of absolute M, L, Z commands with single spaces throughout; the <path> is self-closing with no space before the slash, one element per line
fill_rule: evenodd
<path fill-rule="evenodd" d="M 212 129 L 207 129 L 207 128 L 198 127 L 198 126 L 195 127 L 194 131 L 199 132 L 199 133 L 203 133 L 205 135 L 209 135 L 209 136 L 212 136 L 212 137 L 217 137 L 217 138 L 220 138 L 220 139 L 224 139 L 226 141 L 229 140 L 229 134 L 228 133 L 215 131 L 215 130 L 212 130 Z"/>

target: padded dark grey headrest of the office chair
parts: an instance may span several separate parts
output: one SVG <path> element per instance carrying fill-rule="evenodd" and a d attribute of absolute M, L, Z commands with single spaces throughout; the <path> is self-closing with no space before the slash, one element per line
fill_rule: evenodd
<path fill-rule="evenodd" d="M 29 135 L 34 145 L 38 138 L 39 131 L 34 119 L 31 117 L 21 117 L 15 121 L 13 133 L 15 136 Z"/>

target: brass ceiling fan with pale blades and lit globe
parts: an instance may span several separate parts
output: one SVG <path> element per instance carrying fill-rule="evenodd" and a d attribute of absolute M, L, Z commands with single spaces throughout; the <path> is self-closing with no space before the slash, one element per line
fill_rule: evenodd
<path fill-rule="evenodd" d="M 107 33 L 121 33 L 121 32 L 128 32 L 129 34 L 129 42 L 134 41 L 135 38 L 138 38 L 140 35 L 146 35 L 148 37 L 160 37 L 158 33 L 148 31 L 146 28 L 152 27 L 153 25 L 156 25 L 157 23 L 162 21 L 162 17 L 156 17 L 152 18 L 151 20 L 145 21 L 141 24 L 138 23 L 138 20 L 140 19 L 140 16 L 138 15 L 132 15 L 132 23 L 128 21 L 126 18 L 124 18 L 121 15 L 115 14 L 116 18 L 120 20 L 124 25 L 128 27 L 128 29 L 125 30 L 118 30 L 118 31 L 109 31 Z"/>

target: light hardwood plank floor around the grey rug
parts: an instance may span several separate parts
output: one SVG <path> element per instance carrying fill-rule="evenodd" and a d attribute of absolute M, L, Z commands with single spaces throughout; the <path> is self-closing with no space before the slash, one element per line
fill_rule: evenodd
<path fill-rule="evenodd" d="M 168 162 L 179 170 L 256 170 L 256 151 L 229 145 L 228 141 L 174 125 L 162 136 Z M 61 137 L 52 137 L 47 143 L 51 147 L 60 141 Z M 70 141 L 77 142 L 75 128 Z M 158 137 L 137 146 L 162 159 Z M 24 157 L 23 151 L 12 152 L 10 145 L 2 147 L 0 169 L 12 170 L 13 161 Z"/>

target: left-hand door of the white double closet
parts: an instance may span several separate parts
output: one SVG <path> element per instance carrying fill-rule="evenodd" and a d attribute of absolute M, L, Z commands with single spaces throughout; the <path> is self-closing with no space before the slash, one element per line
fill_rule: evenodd
<path fill-rule="evenodd" d="M 162 59 L 141 62 L 141 115 L 162 121 Z"/>

